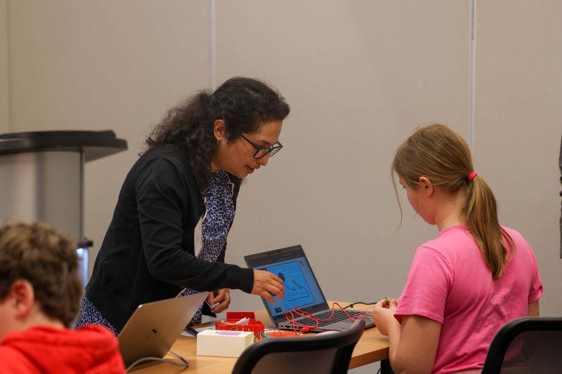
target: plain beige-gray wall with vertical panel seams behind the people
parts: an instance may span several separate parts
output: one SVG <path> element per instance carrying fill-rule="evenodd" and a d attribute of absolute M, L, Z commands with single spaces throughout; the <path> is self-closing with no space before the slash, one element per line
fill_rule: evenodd
<path fill-rule="evenodd" d="M 473 144 L 502 222 L 537 254 L 542 314 L 561 315 L 562 3 L 479 1 L 471 18 L 474 4 L 0 1 L 0 76 L 11 81 L 0 131 L 9 109 L 11 131 L 111 128 L 129 141 L 86 167 L 85 232 L 99 245 L 166 109 L 214 76 L 266 79 L 292 105 L 285 149 L 244 183 L 227 260 L 301 243 L 327 297 L 370 301 L 398 295 L 415 248 L 437 234 L 407 205 L 396 231 L 393 152 L 420 124 L 447 123 Z M 233 292 L 232 309 L 256 307 Z"/>

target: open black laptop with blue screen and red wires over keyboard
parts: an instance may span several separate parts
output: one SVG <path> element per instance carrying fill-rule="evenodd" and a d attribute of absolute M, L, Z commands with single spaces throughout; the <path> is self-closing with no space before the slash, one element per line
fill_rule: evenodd
<path fill-rule="evenodd" d="M 301 246 L 276 249 L 255 255 L 244 256 L 246 264 L 251 269 L 267 270 L 279 276 L 285 282 L 285 296 L 283 300 L 274 296 L 274 304 L 263 299 L 268 314 L 276 328 L 292 330 L 293 323 L 287 321 L 285 312 L 293 308 L 301 309 L 304 312 L 313 314 L 318 319 L 327 319 L 332 314 L 332 307 L 329 306 L 320 289 L 320 285 L 312 272 L 311 265 L 306 259 Z M 344 305 L 342 305 L 343 307 Z M 339 307 L 335 307 L 334 317 L 329 321 L 320 322 L 319 326 L 311 331 L 341 331 L 345 330 L 353 321 L 342 312 Z M 346 312 L 353 317 L 357 313 L 371 312 L 348 310 Z M 372 320 L 367 316 L 359 316 L 365 321 L 365 328 L 374 326 Z M 314 326 L 316 323 L 312 319 L 306 319 L 294 313 L 295 322 L 306 326 Z M 294 328 L 300 330 L 302 326 L 295 323 Z"/>

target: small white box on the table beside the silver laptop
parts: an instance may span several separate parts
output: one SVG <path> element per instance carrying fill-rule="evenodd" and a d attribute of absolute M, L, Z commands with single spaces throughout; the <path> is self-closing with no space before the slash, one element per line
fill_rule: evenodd
<path fill-rule="evenodd" d="M 197 334 L 197 356 L 238 357 L 253 342 L 251 331 L 203 330 Z"/>

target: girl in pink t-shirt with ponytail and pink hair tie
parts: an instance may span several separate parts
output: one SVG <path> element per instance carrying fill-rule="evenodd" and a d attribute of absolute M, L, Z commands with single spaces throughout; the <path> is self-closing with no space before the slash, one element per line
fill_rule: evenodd
<path fill-rule="evenodd" d="M 499 328 L 539 315 L 535 255 L 521 234 L 499 225 L 495 197 L 474 171 L 468 145 L 447 126 L 415 131 L 392 170 L 439 235 L 417 248 L 400 301 L 374 307 L 391 366 L 396 373 L 478 372 Z"/>

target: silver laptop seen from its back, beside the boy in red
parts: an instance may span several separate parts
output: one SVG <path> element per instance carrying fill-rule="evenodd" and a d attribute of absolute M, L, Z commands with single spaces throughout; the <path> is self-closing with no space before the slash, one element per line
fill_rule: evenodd
<path fill-rule="evenodd" d="M 195 293 L 139 305 L 117 337 L 125 367 L 143 357 L 164 357 L 207 295 Z"/>

